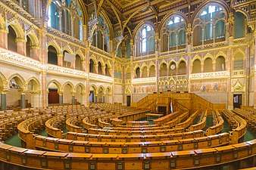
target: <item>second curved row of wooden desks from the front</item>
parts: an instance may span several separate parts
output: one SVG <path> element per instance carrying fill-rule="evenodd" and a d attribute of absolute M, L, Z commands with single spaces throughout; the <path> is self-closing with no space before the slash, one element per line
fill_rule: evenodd
<path fill-rule="evenodd" d="M 60 152 L 111 154 L 158 153 L 220 147 L 229 144 L 229 134 L 223 133 L 200 138 L 148 142 L 73 141 L 34 135 L 33 144 L 35 148 Z"/>

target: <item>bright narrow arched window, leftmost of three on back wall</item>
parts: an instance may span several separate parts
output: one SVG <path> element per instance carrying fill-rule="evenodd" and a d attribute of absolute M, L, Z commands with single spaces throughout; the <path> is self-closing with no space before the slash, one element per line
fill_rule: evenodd
<path fill-rule="evenodd" d="M 150 25 L 144 25 L 136 34 L 136 55 L 147 55 L 155 52 L 155 31 Z"/>

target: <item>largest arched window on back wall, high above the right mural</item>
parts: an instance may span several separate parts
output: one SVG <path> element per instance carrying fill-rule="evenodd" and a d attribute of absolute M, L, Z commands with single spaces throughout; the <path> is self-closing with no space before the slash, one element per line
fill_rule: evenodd
<path fill-rule="evenodd" d="M 203 45 L 225 40 L 226 16 L 223 8 L 209 5 L 194 21 L 194 45 Z"/>

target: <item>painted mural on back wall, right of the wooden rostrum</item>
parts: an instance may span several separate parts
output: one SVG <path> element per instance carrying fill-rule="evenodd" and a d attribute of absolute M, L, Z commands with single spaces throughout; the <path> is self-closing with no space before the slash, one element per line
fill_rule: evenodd
<path fill-rule="evenodd" d="M 226 92 L 226 79 L 191 82 L 191 92 Z"/>

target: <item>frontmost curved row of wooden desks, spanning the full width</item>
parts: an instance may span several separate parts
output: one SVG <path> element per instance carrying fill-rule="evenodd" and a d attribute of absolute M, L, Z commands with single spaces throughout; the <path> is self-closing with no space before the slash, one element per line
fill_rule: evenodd
<path fill-rule="evenodd" d="M 164 153 L 92 154 L 29 150 L 0 144 L 0 160 L 36 169 L 189 169 L 217 166 L 256 155 L 256 140 L 226 147 Z"/>

